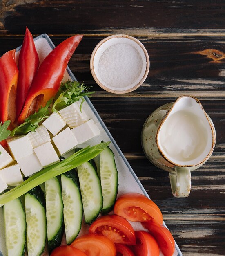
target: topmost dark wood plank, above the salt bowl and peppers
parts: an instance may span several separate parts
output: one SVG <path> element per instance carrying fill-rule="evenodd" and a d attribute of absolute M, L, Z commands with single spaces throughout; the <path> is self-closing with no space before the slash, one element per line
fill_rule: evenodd
<path fill-rule="evenodd" d="M 2 0 L 0 33 L 23 34 L 26 26 L 34 34 L 224 29 L 224 4 L 224 0 Z"/>

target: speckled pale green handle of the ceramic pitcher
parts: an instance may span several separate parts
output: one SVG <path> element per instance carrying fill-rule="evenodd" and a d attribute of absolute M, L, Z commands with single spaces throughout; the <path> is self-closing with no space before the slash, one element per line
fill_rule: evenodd
<path fill-rule="evenodd" d="M 191 172 L 189 167 L 175 167 L 176 173 L 169 173 L 172 193 L 176 198 L 185 198 L 191 191 Z"/>

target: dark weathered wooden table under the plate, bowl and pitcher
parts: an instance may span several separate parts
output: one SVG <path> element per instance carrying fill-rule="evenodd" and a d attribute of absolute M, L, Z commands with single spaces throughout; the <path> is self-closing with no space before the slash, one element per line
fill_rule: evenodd
<path fill-rule="evenodd" d="M 225 255 L 225 0 L 0 0 L 0 54 L 22 44 L 26 26 L 56 45 L 84 34 L 69 67 L 78 81 L 94 86 L 92 103 L 183 255 Z M 135 36 L 149 53 L 149 75 L 129 94 L 105 92 L 91 76 L 91 52 L 111 34 Z M 217 135 L 212 157 L 192 173 L 188 198 L 172 196 L 168 173 L 140 145 L 148 115 L 181 95 L 200 99 Z"/>

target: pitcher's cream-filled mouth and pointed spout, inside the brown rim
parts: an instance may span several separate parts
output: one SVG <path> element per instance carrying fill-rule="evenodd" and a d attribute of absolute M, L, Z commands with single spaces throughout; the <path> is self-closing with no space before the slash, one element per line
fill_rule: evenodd
<path fill-rule="evenodd" d="M 216 133 L 200 101 L 179 97 L 161 121 L 156 144 L 160 154 L 175 166 L 197 166 L 215 146 Z"/>

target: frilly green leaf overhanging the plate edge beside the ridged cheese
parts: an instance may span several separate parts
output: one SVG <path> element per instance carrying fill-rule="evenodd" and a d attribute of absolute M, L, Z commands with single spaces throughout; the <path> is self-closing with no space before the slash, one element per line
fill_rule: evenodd
<path fill-rule="evenodd" d="M 88 92 L 88 90 L 89 88 L 85 86 L 84 83 L 80 84 L 77 81 L 67 81 L 62 83 L 60 90 L 56 94 L 51 111 L 58 112 L 72 103 L 79 101 L 80 99 L 82 99 L 83 103 L 85 101 L 84 96 L 91 97 L 90 94 L 94 93 Z M 80 108 L 82 107 L 82 103 Z"/>

